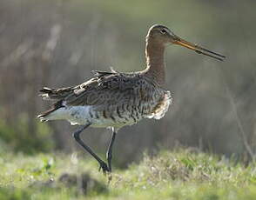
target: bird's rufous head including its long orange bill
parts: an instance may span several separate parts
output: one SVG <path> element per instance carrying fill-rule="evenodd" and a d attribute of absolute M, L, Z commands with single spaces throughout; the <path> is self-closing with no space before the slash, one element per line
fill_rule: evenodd
<path fill-rule="evenodd" d="M 162 46 L 166 46 L 168 44 L 178 44 L 190 50 L 194 50 L 199 54 L 204 54 L 205 56 L 213 57 L 220 61 L 223 61 L 225 58 L 225 56 L 220 55 L 219 53 L 215 53 L 212 50 L 206 50 L 205 48 L 200 47 L 198 44 L 190 43 L 184 39 L 181 39 L 180 37 L 176 36 L 172 30 L 169 30 L 164 25 L 153 25 L 147 33 L 146 40 L 148 43 L 152 41 L 153 43 Z"/>

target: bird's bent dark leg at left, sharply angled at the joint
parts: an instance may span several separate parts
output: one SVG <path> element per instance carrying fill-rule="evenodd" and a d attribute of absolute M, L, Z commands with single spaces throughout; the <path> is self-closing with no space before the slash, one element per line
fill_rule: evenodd
<path fill-rule="evenodd" d="M 89 127 L 91 125 L 91 123 L 88 123 L 84 126 L 82 126 L 81 129 L 77 130 L 76 132 L 73 133 L 73 137 L 75 138 L 75 140 L 77 141 L 77 143 L 79 143 L 84 150 L 88 151 L 92 157 L 94 157 L 98 163 L 99 163 L 99 170 L 103 170 L 103 172 L 105 173 L 106 171 L 110 171 L 107 164 L 104 163 L 104 161 L 102 159 L 100 159 L 92 150 L 89 146 L 87 146 L 83 140 L 80 138 L 80 134 L 82 133 L 83 130 L 85 130 L 87 127 Z"/>

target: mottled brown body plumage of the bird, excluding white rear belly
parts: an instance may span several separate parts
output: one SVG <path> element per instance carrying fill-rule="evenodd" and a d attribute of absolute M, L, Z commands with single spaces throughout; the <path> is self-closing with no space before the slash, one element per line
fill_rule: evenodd
<path fill-rule="evenodd" d="M 75 87 L 44 88 L 41 96 L 45 100 L 57 100 L 57 103 L 38 117 L 51 120 L 55 117 L 54 111 L 71 106 L 91 106 L 87 120 L 92 126 L 98 126 L 102 117 L 112 121 L 105 126 L 115 128 L 137 123 L 144 117 L 163 117 L 169 105 L 165 101 L 171 99 L 170 92 L 145 73 L 97 72 L 97 77 Z M 71 118 L 67 120 L 76 123 Z M 87 123 L 86 119 L 84 123 Z"/>

